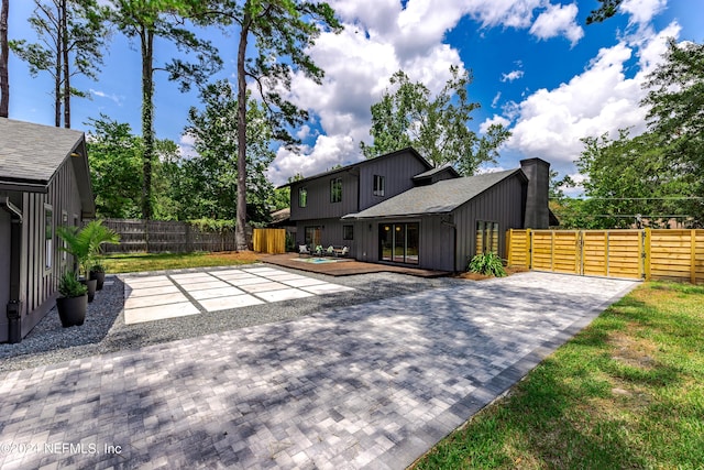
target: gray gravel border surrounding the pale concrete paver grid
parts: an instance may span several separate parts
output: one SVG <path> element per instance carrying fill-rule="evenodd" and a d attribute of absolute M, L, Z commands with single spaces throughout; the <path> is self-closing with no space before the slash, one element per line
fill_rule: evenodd
<path fill-rule="evenodd" d="M 272 266 L 280 271 L 354 287 L 354 291 L 136 325 L 124 324 L 124 283 L 122 278 L 255 266 Z M 56 307 L 54 307 L 22 342 L 16 345 L 0 343 L 0 372 L 54 364 L 116 351 L 133 350 L 148 345 L 195 338 L 254 325 L 286 321 L 351 305 L 464 283 L 466 283 L 465 280 L 454 277 L 426 278 L 398 273 L 372 273 L 334 277 L 265 263 L 108 275 L 102 291 L 96 293 L 95 300 L 88 304 L 86 321 L 82 326 L 63 328 Z"/>

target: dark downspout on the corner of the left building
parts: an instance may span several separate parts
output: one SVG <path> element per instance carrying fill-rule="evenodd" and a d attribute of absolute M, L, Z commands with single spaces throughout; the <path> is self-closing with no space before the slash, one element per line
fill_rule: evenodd
<path fill-rule="evenodd" d="M 8 342 L 22 341 L 22 321 L 20 303 L 20 252 L 22 243 L 22 210 L 6 196 L 0 199 L 0 208 L 10 214 L 10 300 L 6 307 L 8 316 Z"/>

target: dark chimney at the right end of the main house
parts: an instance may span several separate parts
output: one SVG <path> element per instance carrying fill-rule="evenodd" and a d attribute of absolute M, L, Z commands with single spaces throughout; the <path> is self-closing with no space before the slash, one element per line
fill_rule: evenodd
<path fill-rule="evenodd" d="M 550 225 L 548 209 L 550 164 L 540 159 L 527 159 L 520 161 L 520 170 L 528 177 L 524 228 L 547 229 Z"/>

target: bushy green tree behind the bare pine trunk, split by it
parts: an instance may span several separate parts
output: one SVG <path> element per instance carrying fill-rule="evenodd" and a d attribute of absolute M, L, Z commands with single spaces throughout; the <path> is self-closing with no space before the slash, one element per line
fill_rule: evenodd
<path fill-rule="evenodd" d="M 240 207 L 232 199 L 240 184 L 238 174 L 239 102 L 232 85 L 220 80 L 201 91 L 202 111 L 188 112 L 186 133 L 195 138 L 198 156 L 185 162 L 189 179 L 198 182 L 197 212 L 190 218 L 235 220 Z M 276 156 L 270 142 L 273 132 L 265 109 L 255 100 L 248 103 L 246 210 L 248 219 L 268 221 L 274 187 L 265 172 Z"/>

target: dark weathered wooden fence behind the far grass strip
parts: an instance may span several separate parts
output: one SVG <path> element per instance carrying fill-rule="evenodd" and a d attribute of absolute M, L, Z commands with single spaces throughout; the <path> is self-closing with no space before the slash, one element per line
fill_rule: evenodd
<path fill-rule="evenodd" d="M 234 251 L 234 230 L 204 231 L 188 222 L 140 219 L 105 219 L 103 225 L 120 234 L 120 244 L 107 244 L 107 253 L 189 253 Z M 251 245 L 252 229 L 245 230 Z"/>

